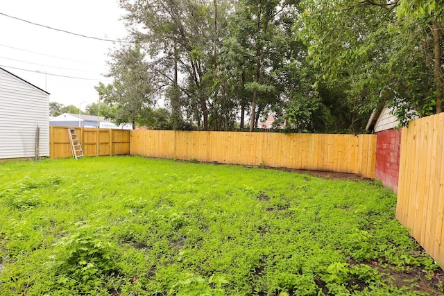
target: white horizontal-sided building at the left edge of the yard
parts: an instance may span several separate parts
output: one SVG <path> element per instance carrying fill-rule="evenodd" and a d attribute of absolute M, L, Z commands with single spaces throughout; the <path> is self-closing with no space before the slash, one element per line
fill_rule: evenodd
<path fill-rule="evenodd" d="M 35 157 L 36 150 L 49 156 L 49 93 L 0 67 L 0 159 Z"/>

